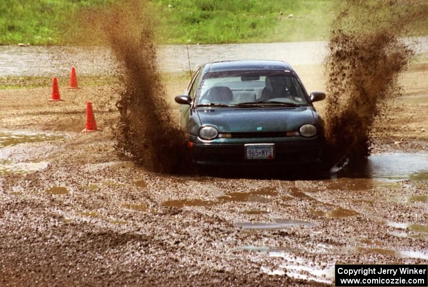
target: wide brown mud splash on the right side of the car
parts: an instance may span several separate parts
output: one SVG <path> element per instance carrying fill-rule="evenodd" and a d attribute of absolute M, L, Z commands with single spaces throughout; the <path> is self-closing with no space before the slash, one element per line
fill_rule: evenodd
<path fill-rule="evenodd" d="M 413 55 L 402 37 L 417 31 L 427 13 L 428 3 L 423 0 L 411 5 L 393 0 L 340 3 L 325 61 L 325 162 L 329 167 L 370 154 L 374 120 L 385 119 L 400 95 L 397 79 Z"/>

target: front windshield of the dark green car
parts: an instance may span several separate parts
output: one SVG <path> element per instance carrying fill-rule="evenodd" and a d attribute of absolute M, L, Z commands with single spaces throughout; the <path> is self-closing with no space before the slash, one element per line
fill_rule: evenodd
<path fill-rule="evenodd" d="M 289 71 L 210 72 L 202 80 L 196 106 L 295 106 L 308 101 Z"/>

